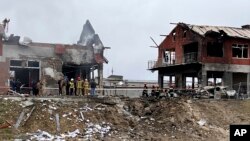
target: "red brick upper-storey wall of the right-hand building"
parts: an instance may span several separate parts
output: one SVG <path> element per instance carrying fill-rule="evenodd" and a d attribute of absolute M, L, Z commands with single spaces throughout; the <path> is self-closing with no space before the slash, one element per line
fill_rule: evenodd
<path fill-rule="evenodd" d="M 184 37 L 184 31 L 186 36 Z M 173 34 L 175 33 L 175 34 Z M 175 37 L 173 37 L 175 35 Z M 167 49 L 175 50 L 176 63 L 180 64 L 183 61 L 183 45 L 198 42 L 198 60 L 203 63 L 222 63 L 222 64 L 240 64 L 250 65 L 250 41 L 238 38 L 227 38 L 223 44 L 224 57 L 208 57 L 207 56 L 207 42 L 212 39 L 202 38 L 200 35 L 192 32 L 191 30 L 185 30 L 183 27 L 177 25 L 172 32 L 163 40 L 160 44 L 158 51 L 159 63 L 162 63 L 163 52 Z M 248 58 L 238 59 L 232 57 L 232 44 L 247 44 Z"/>

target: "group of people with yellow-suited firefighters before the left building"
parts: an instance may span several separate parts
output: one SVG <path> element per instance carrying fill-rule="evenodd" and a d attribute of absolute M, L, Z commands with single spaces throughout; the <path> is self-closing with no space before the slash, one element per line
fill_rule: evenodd
<path fill-rule="evenodd" d="M 75 96 L 83 96 L 83 95 L 95 95 L 96 82 L 92 79 L 90 82 L 88 79 L 84 81 L 81 77 L 77 77 L 76 80 L 71 78 L 70 80 L 65 77 L 64 79 L 58 80 L 59 87 L 59 95 L 75 95 Z"/>

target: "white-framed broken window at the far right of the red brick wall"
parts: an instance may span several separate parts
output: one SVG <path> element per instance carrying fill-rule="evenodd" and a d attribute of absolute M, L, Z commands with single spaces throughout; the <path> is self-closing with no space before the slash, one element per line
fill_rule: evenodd
<path fill-rule="evenodd" d="M 233 44 L 232 54 L 235 58 L 248 58 L 248 45 Z"/>

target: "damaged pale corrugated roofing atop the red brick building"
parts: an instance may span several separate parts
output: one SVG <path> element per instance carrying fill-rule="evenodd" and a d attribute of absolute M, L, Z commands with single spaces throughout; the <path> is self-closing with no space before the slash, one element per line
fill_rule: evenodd
<path fill-rule="evenodd" d="M 194 32 L 205 36 L 207 32 L 224 32 L 229 37 L 250 39 L 249 28 L 237 28 L 237 27 L 226 27 L 226 26 L 207 26 L 207 25 L 191 25 L 185 23 L 179 23 L 179 25 L 186 26 Z"/>

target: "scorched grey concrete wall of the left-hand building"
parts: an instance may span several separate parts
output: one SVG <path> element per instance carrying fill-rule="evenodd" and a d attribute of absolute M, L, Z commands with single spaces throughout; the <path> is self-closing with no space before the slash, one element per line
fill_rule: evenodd
<path fill-rule="evenodd" d="M 65 52 L 56 54 L 55 46 L 55 44 L 47 43 L 30 43 L 28 45 L 3 43 L 2 56 L 0 56 L 0 87 L 8 86 L 11 59 L 40 62 L 40 79 L 46 87 L 57 87 L 56 81 L 62 76 L 63 62 L 75 65 L 95 63 L 92 47 L 65 45 Z M 54 74 L 51 75 L 50 72 Z"/>

